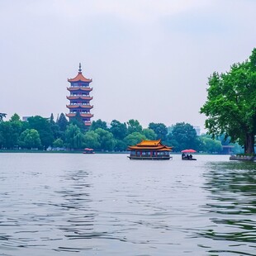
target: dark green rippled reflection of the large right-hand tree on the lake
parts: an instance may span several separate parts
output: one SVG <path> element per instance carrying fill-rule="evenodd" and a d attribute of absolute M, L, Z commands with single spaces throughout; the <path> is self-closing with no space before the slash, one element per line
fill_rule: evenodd
<path fill-rule="evenodd" d="M 211 192 L 205 205 L 213 223 L 199 235 L 233 243 L 211 253 L 255 255 L 256 165 L 245 162 L 208 163 L 204 189 Z M 231 249 L 233 248 L 233 249 Z M 236 248 L 236 249 L 234 249 Z"/>

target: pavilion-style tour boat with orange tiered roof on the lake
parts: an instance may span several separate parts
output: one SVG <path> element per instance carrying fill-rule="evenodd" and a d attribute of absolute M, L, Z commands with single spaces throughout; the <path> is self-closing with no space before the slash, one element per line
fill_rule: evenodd
<path fill-rule="evenodd" d="M 169 160 L 173 147 L 161 143 L 161 140 L 142 140 L 139 144 L 129 146 L 129 159 L 133 160 Z"/>

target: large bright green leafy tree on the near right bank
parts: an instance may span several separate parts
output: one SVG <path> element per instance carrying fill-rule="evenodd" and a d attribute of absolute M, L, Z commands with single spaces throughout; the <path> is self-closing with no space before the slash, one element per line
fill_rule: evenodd
<path fill-rule="evenodd" d="M 227 73 L 213 73 L 208 79 L 207 100 L 201 113 L 207 116 L 209 134 L 230 136 L 254 154 L 256 134 L 256 49 L 249 59 L 233 64 Z"/>

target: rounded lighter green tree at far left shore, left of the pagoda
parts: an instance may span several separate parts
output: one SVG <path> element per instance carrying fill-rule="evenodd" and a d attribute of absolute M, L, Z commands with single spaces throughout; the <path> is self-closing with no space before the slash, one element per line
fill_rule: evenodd
<path fill-rule="evenodd" d="M 40 147 L 40 135 L 35 129 L 26 129 L 21 133 L 19 145 L 21 148 L 35 149 Z"/>

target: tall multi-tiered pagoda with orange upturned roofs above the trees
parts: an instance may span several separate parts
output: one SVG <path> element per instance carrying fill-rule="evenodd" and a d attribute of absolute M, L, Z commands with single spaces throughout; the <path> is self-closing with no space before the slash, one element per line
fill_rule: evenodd
<path fill-rule="evenodd" d="M 90 92 L 92 88 L 90 88 L 90 83 L 92 79 L 85 78 L 82 74 L 81 64 L 79 64 L 78 75 L 75 78 L 68 79 L 70 83 L 70 87 L 67 88 L 70 92 L 67 99 L 70 101 L 67 107 L 69 108 L 69 114 L 66 116 L 73 118 L 79 113 L 82 117 L 85 126 L 91 126 L 91 117 L 93 116 L 90 111 L 92 109 L 92 105 L 90 105 L 90 101 L 92 97 L 90 97 Z"/>

